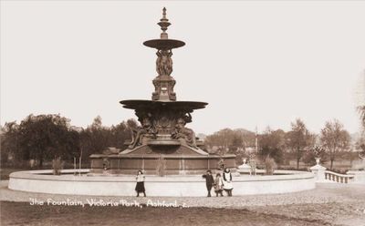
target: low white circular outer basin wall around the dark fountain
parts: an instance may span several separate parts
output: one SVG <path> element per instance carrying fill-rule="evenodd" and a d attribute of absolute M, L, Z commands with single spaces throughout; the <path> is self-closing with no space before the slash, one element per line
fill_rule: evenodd
<path fill-rule="evenodd" d="M 77 170 L 78 171 L 78 170 Z M 49 175 L 52 170 L 28 170 L 10 174 L 8 188 L 28 192 L 92 195 L 135 196 L 135 176 L 105 175 L 89 177 L 89 170 L 81 170 L 83 176 L 74 176 L 75 170 L 62 170 L 59 176 Z M 276 170 L 280 175 L 248 176 L 233 178 L 234 195 L 275 194 L 312 190 L 316 188 L 314 174 L 294 170 Z M 82 175 L 82 174 L 81 174 Z M 206 187 L 202 175 L 146 175 L 146 192 L 154 197 L 205 197 Z"/>

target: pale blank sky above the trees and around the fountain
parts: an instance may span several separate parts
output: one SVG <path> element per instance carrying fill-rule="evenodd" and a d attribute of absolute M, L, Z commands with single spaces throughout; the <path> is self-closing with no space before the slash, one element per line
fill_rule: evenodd
<path fill-rule="evenodd" d="M 337 118 L 360 130 L 365 2 L 1 1 L 1 125 L 60 114 L 87 127 L 136 118 L 123 99 L 151 99 L 162 7 L 178 100 L 204 101 L 187 127 L 318 133 Z"/>

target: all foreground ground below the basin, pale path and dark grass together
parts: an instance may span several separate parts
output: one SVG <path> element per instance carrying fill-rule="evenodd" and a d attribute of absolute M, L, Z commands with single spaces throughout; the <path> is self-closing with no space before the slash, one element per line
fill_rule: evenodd
<path fill-rule="evenodd" d="M 0 182 L 1 225 L 353 225 L 365 226 L 365 186 L 320 183 L 315 190 L 240 197 L 92 197 L 30 193 Z M 54 201 L 137 201 L 141 207 L 31 205 Z M 185 207 L 151 207 L 148 201 Z"/>

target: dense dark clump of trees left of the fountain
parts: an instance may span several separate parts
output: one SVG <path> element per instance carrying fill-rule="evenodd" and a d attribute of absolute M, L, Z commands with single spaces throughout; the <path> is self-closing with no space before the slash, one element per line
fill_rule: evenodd
<path fill-rule="evenodd" d="M 107 147 L 123 149 L 131 128 L 138 127 L 134 119 L 110 128 L 102 125 L 99 116 L 88 128 L 72 127 L 69 121 L 59 115 L 29 115 L 20 125 L 5 123 L 0 134 L 2 161 L 9 156 L 16 160 L 36 159 L 42 167 L 45 160 L 57 157 L 72 159 L 81 155 L 88 159 L 90 154 Z"/>

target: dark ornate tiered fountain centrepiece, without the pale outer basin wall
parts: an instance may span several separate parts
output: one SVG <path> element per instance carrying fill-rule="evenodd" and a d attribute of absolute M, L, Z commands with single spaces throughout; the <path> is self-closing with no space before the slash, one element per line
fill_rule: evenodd
<path fill-rule="evenodd" d="M 93 154 L 91 173 L 126 174 L 144 170 L 148 174 L 195 174 L 208 169 L 235 168 L 235 155 L 211 155 L 201 149 L 202 142 L 195 138 L 191 128 L 191 113 L 205 108 L 207 103 L 177 101 L 173 91 L 172 49 L 185 45 L 183 41 L 169 39 L 166 30 L 171 25 L 163 8 L 158 23 L 160 39 L 145 41 L 144 46 L 157 49 L 155 87 L 151 100 L 122 100 L 124 108 L 134 109 L 141 127 L 133 131 L 128 149 L 118 154 Z"/>

